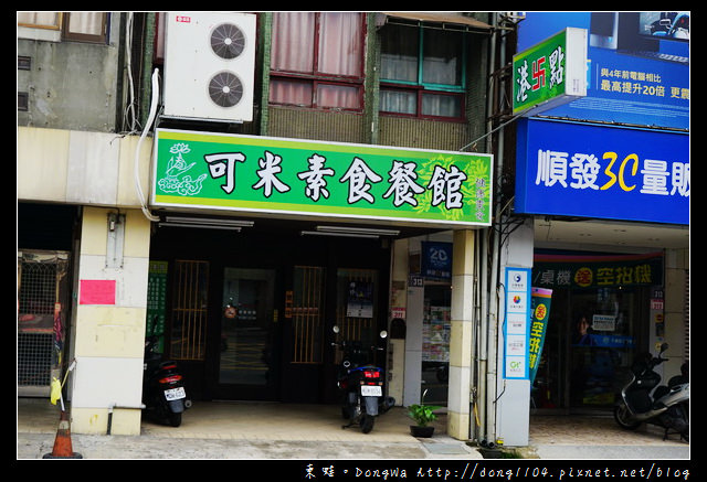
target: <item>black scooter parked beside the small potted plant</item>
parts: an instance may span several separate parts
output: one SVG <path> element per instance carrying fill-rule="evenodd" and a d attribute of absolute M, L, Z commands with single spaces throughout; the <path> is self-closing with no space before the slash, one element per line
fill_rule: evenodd
<path fill-rule="evenodd" d="M 339 328 L 334 326 L 334 332 L 339 333 Z M 381 339 L 387 336 L 386 331 L 380 332 Z M 383 369 L 370 363 L 370 353 L 383 349 L 367 349 L 360 341 L 335 342 L 331 345 L 342 353 L 337 386 L 341 395 L 341 416 L 349 422 L 341 428 L 358 425 L 363 433 L 368 433 L 373 429 L 376 417 L 395 405 L 394 398 L 383 396 Z"/>

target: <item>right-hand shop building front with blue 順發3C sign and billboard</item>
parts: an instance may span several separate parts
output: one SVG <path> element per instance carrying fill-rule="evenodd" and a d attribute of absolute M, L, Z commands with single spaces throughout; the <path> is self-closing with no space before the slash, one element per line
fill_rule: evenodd
<path fill-rule="evenodd" d="M 689 13 L 528 12 L 517 34 L 507 253 L 531 268 L 547 312 L 527 339 L 529 373 L 506 374 L 502 435 L 514 385 L 537 411 L 610 411 L 642 353 L 668 343 L 664 377 L 689 362 Z M 585 93 L 536 94 L 580 50 Z"/>

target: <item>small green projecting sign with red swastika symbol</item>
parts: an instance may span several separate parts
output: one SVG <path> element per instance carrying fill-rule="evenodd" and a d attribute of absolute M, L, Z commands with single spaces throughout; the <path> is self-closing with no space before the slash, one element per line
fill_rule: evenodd
<path fill-rule="evenodd" d="M 529 116 L 587 95 L 587 30 L 567 28 L 513 57 L 513 114 Z"/>

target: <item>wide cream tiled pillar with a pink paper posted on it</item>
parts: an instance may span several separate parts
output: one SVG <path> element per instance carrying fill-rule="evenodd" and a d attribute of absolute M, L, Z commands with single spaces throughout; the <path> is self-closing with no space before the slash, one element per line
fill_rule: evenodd
<path fill-rule="evenodd" d="M 72 326 L 72 431 L 140 433 L 150 222 L 84 207 Z"/>

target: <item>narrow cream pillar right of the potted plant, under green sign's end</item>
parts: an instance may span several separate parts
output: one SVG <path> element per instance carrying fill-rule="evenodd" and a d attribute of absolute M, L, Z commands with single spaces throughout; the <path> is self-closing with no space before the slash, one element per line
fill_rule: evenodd
<path fill-rule="evenodd" d="M 469 386 L 474 343 L 475 236 L 473 231 L 454 232 L 452 266 L 452 323 L 450 333 L 450 387 L 447 435 L 469 438 Z"/>

